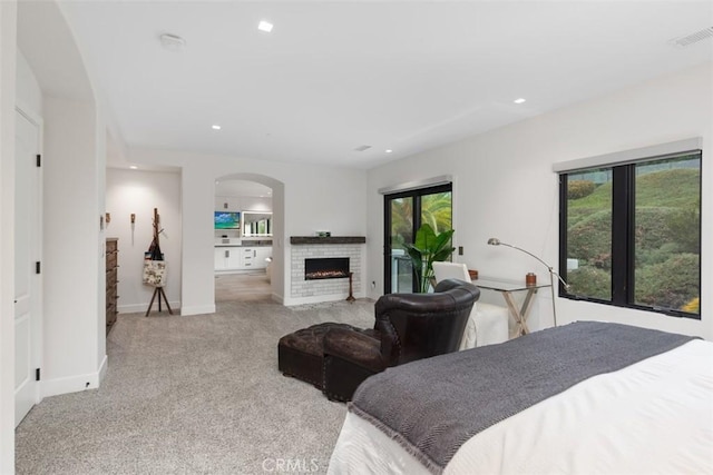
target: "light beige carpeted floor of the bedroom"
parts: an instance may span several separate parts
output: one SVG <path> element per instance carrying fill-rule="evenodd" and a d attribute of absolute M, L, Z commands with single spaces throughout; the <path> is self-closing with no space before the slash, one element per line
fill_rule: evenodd
<path fill-rule="evenodd" d="M 279 459 L 324 473 L 346 408 L 277 372 L 277 339 L 320 321 L 369 327 L 373 303 L 119 315 L 101 387 L 30 412 L 17 473 L 262 474 Z"/>

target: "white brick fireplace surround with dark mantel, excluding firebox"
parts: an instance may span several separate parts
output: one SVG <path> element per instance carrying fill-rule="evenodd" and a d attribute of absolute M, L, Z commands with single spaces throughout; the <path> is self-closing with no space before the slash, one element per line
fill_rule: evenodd
<path fill-rule="evenodd" d="M 304 259 L 325 257 L 348 257 L 352 276 L 352 293 L 362 293 L 363 236 L 292 236 L 290 295 L 293 298 L 304 298 L 312 303 L 330 301 L 349 296 L 349 278 L 305 280 Z"/>

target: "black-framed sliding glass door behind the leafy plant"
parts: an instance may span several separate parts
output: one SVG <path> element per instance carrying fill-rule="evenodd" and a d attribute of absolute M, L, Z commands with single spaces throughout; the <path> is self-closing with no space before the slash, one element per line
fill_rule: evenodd
<path fill-rule="evenodd" d="M 428 222 L 436 232 L 452 227 L 452 185 L 421 188 L 384 196 L 384 294 L 417 290 L 413 267 L 404 243 Z"/>

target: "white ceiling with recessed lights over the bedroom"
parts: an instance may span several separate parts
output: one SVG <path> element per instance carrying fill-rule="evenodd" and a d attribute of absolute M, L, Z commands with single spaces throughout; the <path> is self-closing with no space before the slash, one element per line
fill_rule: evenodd
<path fill-rule="evenodd" d="M 711 1 L 91 0 L 62 10 L 129 148 L 356 168 L 713 60 L 710 38 L 670 43 L 713 26 Z M 162 33 L 185 48 L 164 49 Z M 372 148 L 354 151 L 362 145 Z"/>

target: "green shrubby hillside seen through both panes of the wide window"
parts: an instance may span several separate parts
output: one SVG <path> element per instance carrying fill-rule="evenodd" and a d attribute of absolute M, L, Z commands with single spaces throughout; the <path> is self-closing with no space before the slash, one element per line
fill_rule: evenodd
<path fill-rule="evenodd" d="M 700 170 L 677 168 L 636 178 L 636 301 L 681 308 L 699 297 Z M 608 299 L 612 266 L 612 184 L 568 200 L 567 273 L 576 294 Z"/>

